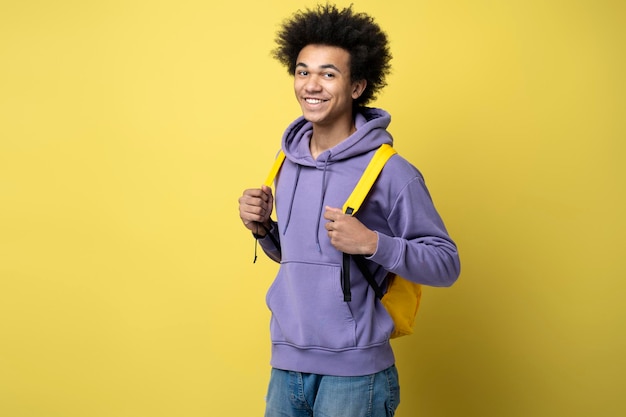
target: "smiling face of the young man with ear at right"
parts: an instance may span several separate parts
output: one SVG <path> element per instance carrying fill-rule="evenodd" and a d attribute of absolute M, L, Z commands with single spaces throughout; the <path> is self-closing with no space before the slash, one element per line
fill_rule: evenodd
<path fill-rule="evenodd" d="M 300 51 L 294 89 L 304 118 L 314 125 L 352 123 L 352 102 L 364 88 L 364 80 L 350 80 L 350 53 L 345 49 L 307 45 Z"/>

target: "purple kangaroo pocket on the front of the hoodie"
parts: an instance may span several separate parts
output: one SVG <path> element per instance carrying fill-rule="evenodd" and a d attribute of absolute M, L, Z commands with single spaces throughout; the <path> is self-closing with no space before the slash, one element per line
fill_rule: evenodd
<path fill-rule="evenodd" d="M 356 324 L 343 301 L 341 268 L 285 262 L 267 293 L 273 343 L 338 350 L 356 346 Z"/>

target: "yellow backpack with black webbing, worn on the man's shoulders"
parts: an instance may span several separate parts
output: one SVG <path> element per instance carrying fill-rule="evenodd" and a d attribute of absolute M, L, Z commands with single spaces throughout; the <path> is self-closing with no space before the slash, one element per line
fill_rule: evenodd
<path fill-rule="evenodd" d="M 367 197 L 374 182 L 378 178 L 378 174 L 382 171 L 387 160 L 396 153 L 390 145 L 382 145 L 374 153 L 371 161 L 361 175 L 361 179 L 357 183 L 354 190 L 346 200 L 343 211 L 346 214 L 354 216 L 361 207 L 361 203 Z M 280 170 L 285 160 L 285 154 L 280 151 L 274 161 L 274 165 L 265 180 L 265 185 L 271 187 L 276 174 Z M 372 274 L 366 267 L 365 259 L 362 255 L 343 254 L 343 271 L 342 271 L 342 287 L 344 291 L 344 301 L 350 301 L 350 259 L 358 266 L 361 273 L 365 276 L 370 286 L 374 289 L 376 296 L 381 300 L 385 309 L 393 319 L 395 328 L 391 334 L 391 338 L 405 336 L 413 333 L 413 324 L 415 316 L 420 305 L 422 296 L 422 286 L 398 275 L 389 273 L 387 275 L 388 285 L 387 291 L 383 293 L 380 286 L 374 280 Z"/>

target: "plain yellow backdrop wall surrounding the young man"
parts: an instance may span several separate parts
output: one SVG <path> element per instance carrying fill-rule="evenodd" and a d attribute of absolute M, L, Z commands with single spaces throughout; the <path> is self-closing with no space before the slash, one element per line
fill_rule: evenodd
<path fill-rule="evenodd" d="M 0 415 L 262 415 L 276 265 L 237 198 L 313 4 L 0 3 Z M 624 2 L 354 4 L 463 265 L 394 342 L 397 415 L 626 415 Z"/>

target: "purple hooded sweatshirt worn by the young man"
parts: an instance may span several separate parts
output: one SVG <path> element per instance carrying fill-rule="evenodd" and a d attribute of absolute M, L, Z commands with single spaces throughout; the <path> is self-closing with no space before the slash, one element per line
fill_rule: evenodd
<path fill-rule="evenodd" d="M 271 239 L 259 242 L 280 262 L 267 292 L 274 368 L 337 376 L 379 372 L 394 364 L 393 321 L 356 266 L 352 301 L 343 301 L 342 254 L 327 236 L 324 207 L 341 208 L 376 149 L 393 144 L 389 114 L 364 108 L 356 132 L 314 160 L 311 123 L 295 120 L 283 136 L 286 160 L 276 178 Z M 456 245 L 419 171 L 392 156 L 356 217 L 378 233 L 369 270 L 385 288 L 386 271 L 430 286 L 452 285 L 460 272 Z"/>

